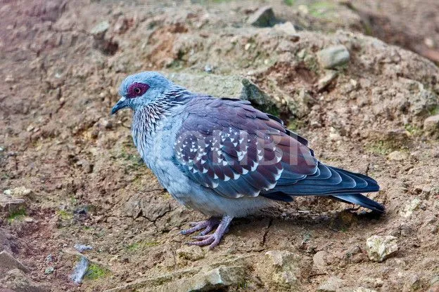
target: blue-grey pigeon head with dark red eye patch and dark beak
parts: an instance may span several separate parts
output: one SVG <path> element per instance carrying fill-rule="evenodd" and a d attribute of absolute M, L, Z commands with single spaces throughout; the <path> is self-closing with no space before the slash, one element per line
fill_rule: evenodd
<path fill-rule="evenodd" d="M 160 98 L 167 88 L 172 86 L 172 81 L 166 79 L 158 72 L 141 72 L 130 75 L 120 84 L 120 100 L 111 110 L 115 114 L 125 107 L 137 110 Z"/>

